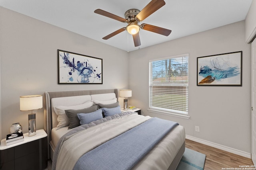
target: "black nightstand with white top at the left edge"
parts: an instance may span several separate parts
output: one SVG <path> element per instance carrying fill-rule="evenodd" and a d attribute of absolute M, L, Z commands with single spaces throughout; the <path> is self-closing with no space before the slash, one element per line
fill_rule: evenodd
<path fill-rule="evenodd" d="M 24 141 L 6 146 L 6 139 L 0 145 L 1 170 L 44 170 L 47 167 L 47 134 L 44 129 Z"/>

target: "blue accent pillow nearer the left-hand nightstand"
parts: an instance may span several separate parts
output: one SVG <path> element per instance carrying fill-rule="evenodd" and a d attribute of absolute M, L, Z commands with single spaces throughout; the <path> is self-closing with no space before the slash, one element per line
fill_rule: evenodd
<path fill-rule="evenodd" d="M 98 109 L 91 113 L 78 113 L 77 117 L 80 120 L 80 125 L 88 124 L 92 121 L 103 118 L 102 109 Z"/>

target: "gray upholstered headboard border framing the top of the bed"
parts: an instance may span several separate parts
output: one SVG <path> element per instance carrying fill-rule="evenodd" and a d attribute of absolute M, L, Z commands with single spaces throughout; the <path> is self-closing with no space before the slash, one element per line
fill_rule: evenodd
<path fill-rule="evenodd" d="M 44 96 L 44 130 L 48 134 L 48 147 L 52 140 L 51 130 L 52 130 L 52 114 L 51 114 L 51 99 L 68 97 L 68 96 L 82 96 L 82 95 L 92 95 L 92 94 L 106 94 L 115 93 L 118 100 L 118 89 L 101 89 L 101 90 L 72 90 L 72 91 L 55 91 L 55 92 L 45 92 Z"/>

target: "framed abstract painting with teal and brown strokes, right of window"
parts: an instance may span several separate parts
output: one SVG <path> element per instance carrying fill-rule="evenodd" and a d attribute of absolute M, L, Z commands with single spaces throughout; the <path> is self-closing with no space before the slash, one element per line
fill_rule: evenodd
<path fill-rule="evenodd" d="M 197 58 L 197 85 L 242 86 L 242 51 Z"/>

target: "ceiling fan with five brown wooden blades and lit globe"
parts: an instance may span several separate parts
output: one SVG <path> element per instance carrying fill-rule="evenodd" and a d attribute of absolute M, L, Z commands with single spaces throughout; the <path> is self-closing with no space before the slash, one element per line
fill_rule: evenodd
<path fill-rule="evenodd" d="M 146 23 L 142 23 L 141 25 L 138 24 L 139 22 L 141 22 L 142 20 L 145 20 L 148 16 L 156 12 L 158 9 L 160 9 L 164 5 L 165 5 L 164 0 L 152 0 L 141 11 L 137 9 L 127 10 L 124 13 L 124 16 L 126 19 L 116 16 L 114 14 L 111 14 L 109 12 L 106 12 L 104 10 L 100 10 L 100 9 L 95 10 L 94 12 L 96 14 L 100 14 L 102 16 L 106 16 L 114 20 L 121 21 L 123 23 L 128 23 L 126 27 L 120 28 L 117 31 L 110 33 L 106 37 L 103 37 L 102 39 L 109 39 L 114 35 L 117 35 L 118 33 L 121 33 L 122 31 L 127 30 L 128 33 L 130 33 L 133 37 L 135 47 L 138 47 L 140 46 L 140 36 L 139 36 L 140 29 L 144 29 L 144 30 L 158 33 L 165 36 L 170 35 L 172 30 L 157 27 L 154 25 L 149 25 Z"/>

